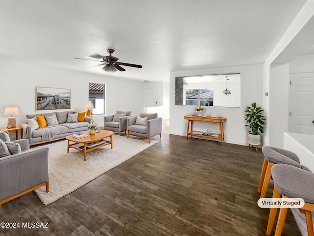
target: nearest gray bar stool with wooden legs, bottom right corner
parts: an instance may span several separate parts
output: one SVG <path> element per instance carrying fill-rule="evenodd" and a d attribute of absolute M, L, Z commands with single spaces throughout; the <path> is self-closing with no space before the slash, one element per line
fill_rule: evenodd
<path fill-rule="evenodd" d="M 274 184 L 273 198 L 302 198 L 305 202 L 299 211 L 305 214 L 307 232 L 302 235 L 314 236 L 312 211 L 314 211 L 314 173 L 300 168 L 278 164 L 271 169 Z M 280 208 L 275 236 L 281 236 L 288 208 Z M 271 235 L 277 208 L 270 208 L 266 235 Z M 300 229 L 301 230 L 301 229 Z"/>

